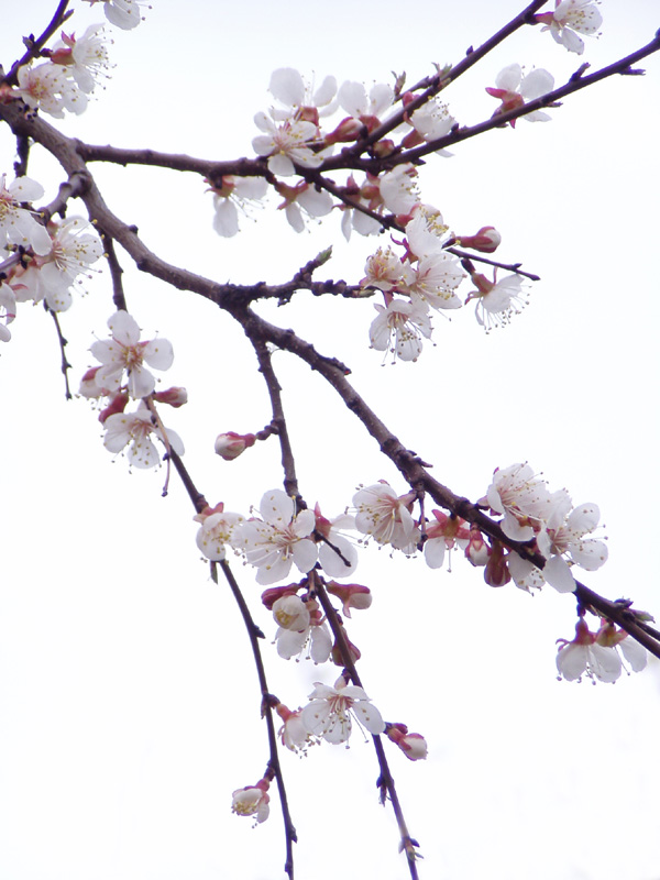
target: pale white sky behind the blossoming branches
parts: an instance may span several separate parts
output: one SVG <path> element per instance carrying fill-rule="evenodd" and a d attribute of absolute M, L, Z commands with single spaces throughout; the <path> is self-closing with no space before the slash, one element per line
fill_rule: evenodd
<path fill-rule="evenodd" d="M 55 2 L 4 11 L 0 61 L 40 33 Z M 113 30 L 117 68 L 79 118 L 54 124 L 91 143 L 209 158 L 253 155 L 252 118 L 268 108 L 273 69 L 320 82 L 414 82 L 432 62 L 460 59 L 521 8 L 510 0 L 402 7 L 340 2 L 249 7 L 154 0 L 131 33 Z M 648 42 L 652 0 L 604 1 L 603 35 L 587 40 L 594 68 Z M 85 4 L 81 33 L 100 21 Z M 513 37 L 447 92 L 461 124 L 486 119 L 484 88 L 502 67 L 546 67 L 559 84 L 582 59 L 540 29 Z M 496 130 L 431 157 L 426 201 L 459 233 L 493 224 L 497 256 L 542 280 L 509 328 L 485 336 L 471 308 L 437 317 L 436 346 L 416 364 L 382 365 L 370 351 L 371 301 L 260 307 L 319 351 L 344 360 L 356 388 L 435 475 L 477 498 L 493 470 L 528 460 L 575 504 L 595 502 L 609 561 L 584 581 L 660 615 L 654 559 L 659 473 L 657 333 L 660 59 L 569 98 L 552 121 Z M 14 143 L 0 131 L 0 173 Z M 384 239 L 346 244 L 332 215 L 296 235 L 277 200 L 223 240 L 194 175 L 97 167 L 110 207 L 136 223 L 165 260 L 218 280 L 278 282 L 332 244 L 319 277 L 359 280 Z M 35 150 L 30 173 L 51 199 L 63 179 Z M 79 208 L 78 210 L 81 210 Z M 75 212 L 75 211 L 72 211 Z M 173 342 L 164 386 L 190 403 L 165 413 L 211 504 L 246 512 L 280 485 L 276 442 L 235 462 L 213 454 L 219 431 L 270 420 L 242 331 L 211 304 L 131 271 L 129 308 Z M 470 287 L 464 285 L 462 294 Z M 63 316 L 73 382 L 94 363 L 112 312 L 107 272 Z M 97 414 L 66 403 L 51 320 L 23 305 L 0 352 L 4 428 L 0 527 L 0 878 L 2 880 L 278 880 L 284 842 L 277 796 L 257 829 L 230 812 L 231 792 L 262 776 L 267 750 L 249 645 L 223 584 L 208 578 L 197 525 L 165 471 L 129 473 L 102 446 Z M 300 488 L 328 514 L 355 487 L 403 481 L 340 402 L 304 365 L 274 359 L 298 459 Z M 614 686 L 558 682 L 556 639 L 574 631 L 574 601 L 551 587 L 531 598 L 487 587 L 459 557 L 453 572 L 366 552 L 354 580 L 374 593 L 349 635 L 363 652 L 365 689 L 391 722 L 429 743 L 426 762 L 388 749 L 426 880 L 659 880 L 660 664 Z M 336 668 L 285 662 L 253 572 L 235 571 L 264 628 L 271 690 L 304 705 Z M 594 622 L 595 623 L 595 622 Z M 377 804 L 377 766 L 356 732 L 283 755 L 304 880 L 407 877 L 389 807 Z"/>

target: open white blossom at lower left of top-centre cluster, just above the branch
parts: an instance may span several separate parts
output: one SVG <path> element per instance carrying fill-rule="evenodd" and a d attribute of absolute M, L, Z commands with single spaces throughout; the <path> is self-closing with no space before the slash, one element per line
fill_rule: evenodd
<path fill-rule="evenodd" d="M 265 134 L 252 140 L 252 147 L 260 156 L 268 156 L 268 169 L 282 177 L 292 177 L 296 173 L 295 165 L 305 168 L 318 168 L 323 161 L 321 153 L 310 150 L 318 136 L 314 122 L 302 119 L 287 119 L 276 124 L 265 113 L 257 113 L 254 122 Z"/>

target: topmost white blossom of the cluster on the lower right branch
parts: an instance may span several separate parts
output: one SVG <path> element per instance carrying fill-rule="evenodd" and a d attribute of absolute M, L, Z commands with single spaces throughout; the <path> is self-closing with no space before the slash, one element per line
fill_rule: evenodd
<path fill-rule="evenodd" d="M 538 480 L 529 464 L 512 464 L 497 469 L 486 498 L 496 514 L 504 514 L 502 530 L 514 541 L 535 537 L 535 526 L 552 512 L 552 496 L 543 480 Z"/>

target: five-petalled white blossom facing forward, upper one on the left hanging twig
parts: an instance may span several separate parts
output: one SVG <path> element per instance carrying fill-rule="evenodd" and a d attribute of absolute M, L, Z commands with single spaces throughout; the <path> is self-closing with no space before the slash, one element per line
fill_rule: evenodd
<path fill-rule="evenodd" d="M 168 370 L 174 360 L 172 343 L 166 339 L 141 342 L 138 322 L 128 311 L 117 311 L 108 319 L 108 327 L 112 339 L 99 340 L 90 348 L 94 356 L 101 362 L 96 375 L 97 384 L 117 391 L 125 370 L 131 397 L 146 397 L 155 388 L 156 381 L 145 370 L 143 362 L 146 361 L 155 370 Z"/>

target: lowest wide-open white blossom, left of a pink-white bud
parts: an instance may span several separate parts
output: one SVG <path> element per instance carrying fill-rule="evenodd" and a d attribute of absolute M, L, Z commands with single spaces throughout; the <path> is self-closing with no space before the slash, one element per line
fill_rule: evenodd
<path fill-rule="evenodd" d="M 385 723 L 362 688 L 346 685 L 340 676 L 334 686 L 315 682 L 310 703 L 300 713 L 308 733 L 337 745 L 351 736 L 353 716 L 370 734 L 382 734 Z"/>

